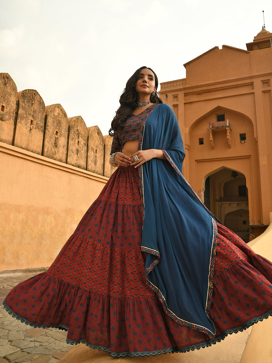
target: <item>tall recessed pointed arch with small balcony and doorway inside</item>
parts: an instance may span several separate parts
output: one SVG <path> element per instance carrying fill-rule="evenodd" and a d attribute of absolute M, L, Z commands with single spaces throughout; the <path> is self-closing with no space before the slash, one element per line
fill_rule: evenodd
<path fill-rule="evenodd" d="M 185 175 L 207 208 L 246 242 L 261 224 L 254 123 L 217 106 L 199 117 L 186 137 Z M 185 160 L 186 160 L 185 158 Z"/>

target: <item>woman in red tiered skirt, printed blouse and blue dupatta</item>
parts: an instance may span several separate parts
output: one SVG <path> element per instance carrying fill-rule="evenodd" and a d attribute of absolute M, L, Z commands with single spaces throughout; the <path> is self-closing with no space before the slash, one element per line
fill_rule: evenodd
<path fill-rule="evenodd" d="M 112 356 L 210 346 L 272 315 L 272 265 L 206 209 L 181 173 L 177 119 L 152 69 L 128 80 L 112 121 L 118 169 L 47 272 L 4 305 Z"/>

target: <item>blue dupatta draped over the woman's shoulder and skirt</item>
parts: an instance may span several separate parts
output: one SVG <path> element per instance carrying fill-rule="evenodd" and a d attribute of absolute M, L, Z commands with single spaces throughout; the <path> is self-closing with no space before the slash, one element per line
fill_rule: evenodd
<path fill-rule="evenodd" d="M 168 105 L 158 105 L 145 122 L 141 149 L 151 148 L 162 150 L 167 160 L 154 158 L 142 166 L 141 249 L 148 284 L 172 319 L 213 338 L 208 315 L 216 222 L 182 175 L 184 147 Z"/>

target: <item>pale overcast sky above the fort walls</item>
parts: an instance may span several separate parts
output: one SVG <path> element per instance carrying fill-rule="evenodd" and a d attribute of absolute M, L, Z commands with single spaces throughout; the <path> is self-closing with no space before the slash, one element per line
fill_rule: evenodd
<path fill-rule="evenodd" d="M 271 0 L 0 0 L 0 72 L 36 89 L 105 135 L 127 79 L 151 67 L 159 82 L 222 44 L 246 49 Z M 160 89 L 160 87 L 159 87 Z"/>

